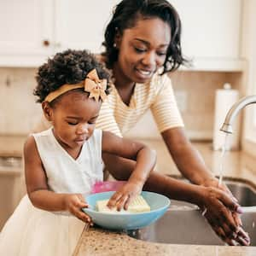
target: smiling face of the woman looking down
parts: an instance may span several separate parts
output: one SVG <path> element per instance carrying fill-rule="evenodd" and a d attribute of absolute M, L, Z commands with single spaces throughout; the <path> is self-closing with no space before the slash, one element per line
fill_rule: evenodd
<path fill-rule="evenodd" d="M 115 39 L 118 75 L 130 82 L 145 83 L 166 61 L 171 29 L 159 18 L 141 19 Z"/>

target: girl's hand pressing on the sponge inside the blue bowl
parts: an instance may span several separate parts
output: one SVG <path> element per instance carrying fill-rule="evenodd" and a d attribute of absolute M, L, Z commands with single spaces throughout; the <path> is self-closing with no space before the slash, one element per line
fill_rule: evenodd
<path fill-rule="evenodd" d="M 115 192 L 108 201 L 108 207 L 111 209 L 116 207 L 118 211 L 122 208 L 128 209 L 130 202 L 140 195 L 143 189 L 142 183 L 127 182 L 121 189 Z"/>

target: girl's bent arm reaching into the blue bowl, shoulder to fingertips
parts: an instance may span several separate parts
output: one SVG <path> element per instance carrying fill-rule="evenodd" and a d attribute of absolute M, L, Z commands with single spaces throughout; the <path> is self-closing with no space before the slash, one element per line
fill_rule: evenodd
<path fill-rule="evenodd" d="M 127 209 L 130 201 L 143 189 L 149 173 L 156 162 L 156 153 L 143 143 L 137 143 L 122 137 L 117 137 L 108 131 L 102 131 L 102 153 L 118 155 L 120 157 L 136 160 L 136 165 L 128 179 L 128 183 L 117 191 L 108 202 L 108 207 L 116 206 Z M 122 166 L 119 166 L 122 169 Z"/>

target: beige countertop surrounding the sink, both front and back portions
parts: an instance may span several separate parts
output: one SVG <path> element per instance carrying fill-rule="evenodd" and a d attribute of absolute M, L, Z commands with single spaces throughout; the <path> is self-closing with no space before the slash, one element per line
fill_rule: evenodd
<path fill-rule="evenodd" d="M 157 171 L 180 176 L 168 151 L 161 141 L 143 141 L 158 153 Z M 212 151 L 211 143 L 193 143 L 201 152 L 207 166 L 215 175 L 219 174 L 220 154 Z M 224 156 L 224 177 L 246 179 L 256 185 L 256 160 L 240 151 L 230 151 Z M 188 253 L 189 252 L 189 253 Z M 87 225 L 80 237 L 73 256 L 84 255 L 189 255 L 189 256 L 255 256 L 256 247 L 199 246 L 153 243 L 139 241 L 125 233 L 89 228 Z"/>

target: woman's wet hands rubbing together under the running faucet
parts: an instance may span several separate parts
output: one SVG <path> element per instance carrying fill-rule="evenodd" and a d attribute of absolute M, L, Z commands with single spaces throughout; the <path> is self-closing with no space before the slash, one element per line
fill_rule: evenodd
<path fill-rule="evenodd" d="M 230 190 L 224 185 L 219 188 L 205 187 L 203 190 L 205 200 L 202 209 L 206 209 L 205 217 L 216 234 L 230 245 L 248 245 L 249 237 L 241 228 L 241 207 Z"/>

